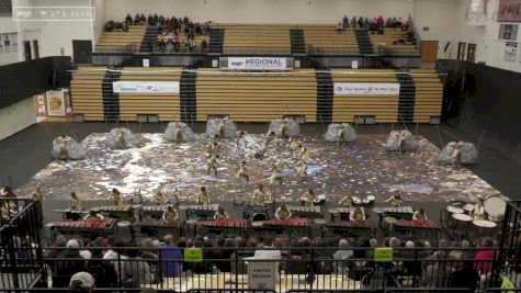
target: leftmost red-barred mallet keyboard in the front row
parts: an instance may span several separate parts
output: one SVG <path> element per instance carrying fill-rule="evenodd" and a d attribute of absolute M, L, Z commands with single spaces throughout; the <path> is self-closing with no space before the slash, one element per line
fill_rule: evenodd
<path fill-rule="evenodd" d="M 57 234 L 80 235 L 82 237 L 109 236 L 114 234 L 116 221 L 113 218 L 55 222 L 50 225 L 50 237 Z"/>

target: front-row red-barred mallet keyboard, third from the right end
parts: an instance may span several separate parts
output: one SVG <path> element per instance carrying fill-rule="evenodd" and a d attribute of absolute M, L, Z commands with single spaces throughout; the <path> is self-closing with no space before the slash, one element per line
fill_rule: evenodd
<path fill-rule="evenodd" d="M 262 223 L 262 225 L 257 225 L 260 223 Z M 310 237 L 310 233 L 312 233 L 309 221 L 305 217 L 288 218 L 288 219 L 273 218 L 273 219 L 253 222 L 251 225 L 252 225 L 252 228 L 257 229 L 259 234 L 262 234 L 262 232 L 276 233 L 276 234 L 283 234 L 284 232 L 287 232 L 290 236 L 297 235 L 297 236 Z"/>

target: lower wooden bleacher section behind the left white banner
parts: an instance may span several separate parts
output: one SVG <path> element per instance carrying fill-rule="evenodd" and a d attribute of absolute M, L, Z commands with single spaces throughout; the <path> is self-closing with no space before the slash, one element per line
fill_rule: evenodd
<path fill-rule="evenodd" d="M 179 81 L 179 67 L 125 67 L 120 80 Z M 137 121 L 138 114 L 157 114 L 159 121 L 180 119 L 179 93 L 120 93 L 120 120 Z"/>

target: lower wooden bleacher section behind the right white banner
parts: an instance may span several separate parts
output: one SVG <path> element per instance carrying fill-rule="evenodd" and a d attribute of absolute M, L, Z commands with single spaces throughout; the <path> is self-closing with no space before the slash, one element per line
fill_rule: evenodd
<path fill-rule="evenodd" d="M 393 70 L 332 69 L 333 82 L 398 82 Z M 333 95 L 333 122 L 354 122 L 355 116 L 374 115 L 376 123 L 398 121 L 399 95 Z"/>

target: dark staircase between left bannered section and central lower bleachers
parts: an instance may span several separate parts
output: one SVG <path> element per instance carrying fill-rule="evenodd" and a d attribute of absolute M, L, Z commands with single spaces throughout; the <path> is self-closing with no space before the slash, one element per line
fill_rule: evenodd
<path fill-rule="evenodd" d="M 180 106 L 181 106 L 181 121 L 184 123 L 195 122 L 195 114 L 197 109 L 197 99 L 195 92 L 195 84 L 197 80 L 197 72 L 183 70 L 181 72 L 181 87 L 180 87 Z"/>

